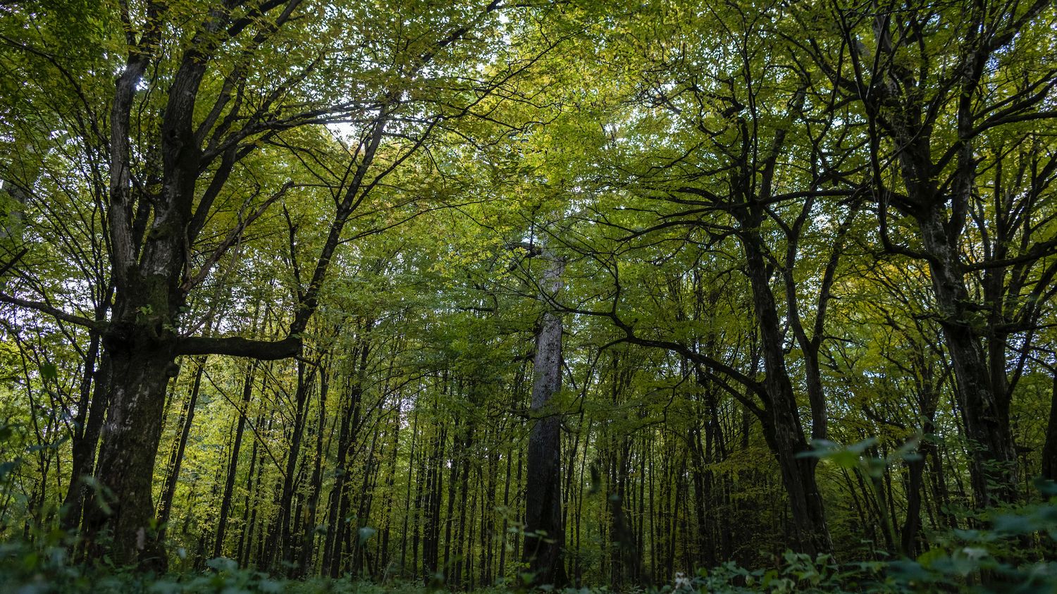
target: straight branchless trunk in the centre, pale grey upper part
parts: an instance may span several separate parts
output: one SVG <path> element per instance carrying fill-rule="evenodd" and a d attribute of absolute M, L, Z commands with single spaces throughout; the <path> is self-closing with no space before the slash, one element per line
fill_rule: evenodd
<path fill-rule="evenodd" d="M 545 290 L 560 290 L 563 271 L 564 261 L 550 256 L 542 283 Z M 535 423 L 528 433 L 524 539 L 524 559 L 533 582 L 557 587 L 568 582 L 561 554 L 565 541 L 561 524 L 561 416 L 552 405 L 552 397 L 561 389 L 561 318 L 548 308 L 536 337 L 531 406 Z"/>

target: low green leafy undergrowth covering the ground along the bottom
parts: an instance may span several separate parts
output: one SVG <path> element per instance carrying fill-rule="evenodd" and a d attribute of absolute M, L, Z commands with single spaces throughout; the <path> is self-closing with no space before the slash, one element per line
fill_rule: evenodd
<path fill-rule="evenodd" d="M 969 523 L 977 530 L 953 530 L 929 537 L 929 549 L 916 558 L 890 558 L 837 563 L 828 555 L 811 557 L 787 551 L 772 568 L 745 569 L 734 562 L 697 575 L 678 575 L 672 583 L 635 587 L 636 593 L 888 593 L 994 592 L 1057 593 L 1057 484 L 1036 481 L 1040 498 L 1028 504 L 991 509 Z M 74 542 L 61 531 L 33 539 L 0 542 L 0 593 L 292 593 L 381 594 L 447 592 L 437 584 L 389 581 L 371 583 L 351 578 L 290 580 L 240 569 L 218 558 L 199 572 L 153 575 L 70 562 Z M 528 578 L 531 576 L 523 576 Z M 439 586 L 438 586 L 439 584 Z M 476 590 L 481 593 L 526 592 L 524 586 Z M 555 591 L 553 588 L 544 588 Z M 591 594 L 598 588 L 564 589 Z"/>

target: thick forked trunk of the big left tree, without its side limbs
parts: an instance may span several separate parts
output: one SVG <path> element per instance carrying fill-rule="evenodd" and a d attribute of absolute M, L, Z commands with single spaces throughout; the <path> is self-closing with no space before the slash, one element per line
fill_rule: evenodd
<path fill-rule="evenodd" d="M 181 82 L 190 83 L 190 92 L 169 96 L 171 109 L 166 110 L 163 128 L 167 134 L 161 147 L 165 178 L 161 196 L 148 199 L 133 193 L 131 112 L 137 85 L 162 36 L 157 10 L 153 4 L 147 8 L 146 27 L 138 45 L 129 51 L 110 109 L 107 214 L 115 300 L 112 322 L 103 337 L 111 382 L 97 478 L 109 489 L 113 503 L 110 509 L 95 505 L 86 513 L 85 535 L 97 553 L 109 549 L 116 564 L 138 561 L 164 569 L 160 543 L 149 534 L 154 515 L 151 480 L 162 434 L 165 388 L 178 369 L 173 363 L 178 354 L 174 322 L 183 304 L 179 285 L 198 172 L 198 163 L 188 163 L 193 151 L 185 150 L 193 146 L 186 143 L 191 112 L 181 108 L 187 108 L 189 103 L 193 110 L 193 91 L 201 76 L 181 72 L 173 82 L 173 89 Z M 192 61 L 204 71 L 203 60 Z M 141 225 L 134 216 L 136 202 L 143 212 L 149 212 L 147 205 L 153 205 L 145 242 L 141 231 L 146 223 Z M 100 538 L 105 533 L 112 542 L 109 547 L 103 544 L 107 539 Z"/>

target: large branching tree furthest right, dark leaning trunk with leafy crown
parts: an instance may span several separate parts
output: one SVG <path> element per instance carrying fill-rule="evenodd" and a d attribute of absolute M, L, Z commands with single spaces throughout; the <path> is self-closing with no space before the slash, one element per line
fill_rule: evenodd
<path fill-rule="evenodd" d="M 832 18 L 836 40 L 818 35 L 829 30 L 816 25 L 800 43 L 867 120 L 883 245 L 928 263 L 972 451 L 977 504 L 1014 501 L 1007 344 L 1036 327 L 1043 287 L 1055 274 L 1047 259 L 1057 248 L 1037 235 L 1055 166 L 1030 148 L 1033 133 L 1018 128 L 1049 126 L 1055 115 L 1046 106 L 1057 72 L 1040 66 L 1052 48 L 1036 29 L 1049 26 L 1052 7 L 911 3 L 855 13 L 835 6 Z M 1007 148 L 1024 141 L 1026 150 Z M 1010 189 L 1017 162 L 1024 165 Z M 904 217 L 902 237 L 891 210 Z M 972 236 L 970 221 L 980 236 Z"/>

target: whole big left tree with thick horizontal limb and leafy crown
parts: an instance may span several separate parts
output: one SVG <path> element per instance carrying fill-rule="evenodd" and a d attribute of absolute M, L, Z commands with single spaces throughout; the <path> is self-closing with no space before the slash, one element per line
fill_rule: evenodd
<path fill-rule="evenodd" d="M 164 564 L 160 552 L 147 544 L 153 541 L 147 532 L 165 388 L 179 372 L 174 359 L 204 354 L 276 359 L 299 351 L 300 335 L 318 307 L 330 261 L 353 210 L 439 124 L 467 112 L 488 88 L 468 90 L 468 104 L 442 101 L 435 110 L 428 107 L 430 103 L 416 103 L 405 93 L 427 78 L 427 66 L 443 73 L 438 80 L 453 75 L 437 62 L 443 56 L 457 69 L 458 60 L 467 54 L 452 53 L 452 44 L 474 26 L 492 26 L 495 20 L 488 15 L 499 6 L 493 2 L 434 12 L 419 22 L 425 35 L 418 35 L 412 44 L 403 43 L 400 34 L 372 40 L 361 37 L 366 30 L 350 31 L 344 18 L 357 17 L 360 20 L 352 22 L 358 24 L 369 17 L 359 8 L 309 13 L 300 0 L 204 7 L 147 2 L 123 5 L 117 13 L 103 16 L 120 23 L 124 39 L 111 43 L 125 54 L 113 95 L 105 105 L 88 106 L 96 123 L 108 123 L 109 164 L 100 171 L 109 179 L 106 217 L 114 284 L 109 317 L 87 319 L 17 297 L 6 300 L 89 328 L 103 337 L 110 380 L 100 390 L 107 401 L 107 421 L 97 475 L 112 494 L 113 505 L 112 513 L 91 511 L 85 527 L 90 536 L 112 535 L 115 561 Z M 322 26 L 307 26 L 300 16 L 310 14 L 322 19 Z M 174 27 L 185 16 L 193 26 Z M 32 14 L 24 17 L 33 18 Z M 336 75 L 344 58 L 331 49 L 330 34 L 341 31 L 335 27 L 346 27 L 348 34 L 340 38 L 348 49 L 365 43 L 361 57 L 368 61 L 356 76 L 345 72 L 347 86 L 332 86 L 330 92 L 320 93 L 321 81 Z M 285 51 L 294 45 L 299 50 Z M 58 58 L 50 59 L 61 69 Z M 384 70 L 384 63 L 392 66 Z M 274 76 L 278 72 L 286 74 Z M 451 92 L 458 95 L 464 90 Z M 160 115 L 134 117 L 143 110 Z M 246 199 L 238 223 L 221 231 L 223 240 L 202 245 L 203 230 L 234 198 L 231 183 L 239 177 L 239 167 L 267 145 L 292 150 L 296 159 L 290 131 L 340 119 L 357 128 L 358 148 L 350 151 L 345 173 L 336 175 L 339 183 L 333 186 L 336 198 L 330 233 L 307 286 L 297 291 L 286 337 L 257 341 L 183 335 L 181 313 L 214 264 L 255 219 L 304 183 L 295 178 L 265 185 Z M 393 137 L 408 142 L 385 149 L 385 163 L 376 165 L 387 127 L 395 131 Z M 101 124 L 99 128 L 104 129 Z M 200 248 L 204 252 L 192 257 Z"/>

